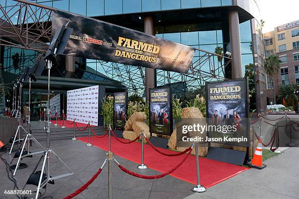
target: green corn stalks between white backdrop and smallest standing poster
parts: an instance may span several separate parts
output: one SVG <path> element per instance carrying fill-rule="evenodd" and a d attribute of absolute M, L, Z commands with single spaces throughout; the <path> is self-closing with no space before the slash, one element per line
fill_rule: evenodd
<path fill-rule="evenodd" d="M 113 96 L 109 95 L 104 97 L 102 101 L 101 114 L 104 117 L 104 127 L 108 127 L 109 124 L 113 124 Z"/>

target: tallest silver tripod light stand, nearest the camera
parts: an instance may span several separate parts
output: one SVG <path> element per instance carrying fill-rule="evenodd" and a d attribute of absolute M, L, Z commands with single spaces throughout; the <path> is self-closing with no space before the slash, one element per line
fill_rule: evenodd
<path fill-rule="evenodd" d="M 52 62 L 49 60 L 46 60 L 47 63 L 47 69 L 48 69 L 48 101 L 47 101 L 47 120 L 49 121 L 49 117 L 50 117 L 50 70 L 51 70 L 51 65 Z M 38 199 L 38 195 L 39 195 L 39 191 L 41 189 L 41 187 L 44 187 L 47 183 L 50 184 L 54 184 L 54 180 L 55 179 L 59 179 L 62 177 L 67 177 L 67 176 L 71 176 L 74 175 L 73 171 L 64 163 L 64 161 L 57 155 L 55 154 L 55 152 L 50 149 L 50 123 L 46 122 L 46 134 L 47 134 L 47 148 L 46 150 L 43 152 L 44 154 L 42 155 L 42 157 L 40 158 L 39 162 L 37 163 L 37 165 L 35 166 L 32 174 L 30 175 L 30 177 L 28 178 L 26 184 L 33 184 L 33 185 L 37 185 L 37 192 L 36 192 L 36 196 L 35 199 Z M 64 166 L 67 168 L 67 170 L 70 173 L 66 173 L 66 174 L 62 174 L 59 176 L 55 176 L 55 177 L 51 177 L 50 176 L 50 154 L 53 154 L 57 157 L 57 159 L 64 164 Z M 39 166 L 41 160 L 43 158 L 43 166 L 42 166 L 42 171 L 37 171 L 36 169 Z M 43 173 L 45 172 L 45 174 Z M 75 175 L 74 175 L 75 176 Z M 36 184 L 34 182 L 37 182 L 37 177 L 39 178 L 39 183 Z M 75 176 L 76 177 L 76 176 Z M 78 177 L 76 177 L 82 184 L 84 184 Z M 25 188 L 26 184 L 24 185 L 23 189 Z"/>

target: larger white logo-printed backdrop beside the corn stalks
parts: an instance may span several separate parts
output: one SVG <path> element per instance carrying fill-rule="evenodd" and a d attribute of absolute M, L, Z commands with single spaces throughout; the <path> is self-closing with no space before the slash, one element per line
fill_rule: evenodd
<path fill-rule="evenodd" d="M 67 91 L 67 120 L 98 126 L 99 86 Z"/>

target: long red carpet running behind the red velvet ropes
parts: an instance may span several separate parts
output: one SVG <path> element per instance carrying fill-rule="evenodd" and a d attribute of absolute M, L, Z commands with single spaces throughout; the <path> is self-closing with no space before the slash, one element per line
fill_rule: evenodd
<path fill-rule="evenodd" d="M 88 137 L 78 138 L 79 140 L 86 142 Z M 124 139 L 126 140 L 126 139 Z M 108 150 L 108 136 L 103 138 L 90 137 L 90 142 L 100 149 L 105 151 Z M 162 152 L 171 154 L 175 153 L 170 150 L 161 149 Z M 141 143 L 134 142 L 131 144 L 122 144 L 117 141 L 114 137 L 111 137 L 111 151 L 118 156 L 126 158 L 130 161 L 141 163 Z M 177 157 L 169 157 L 160 155 L 154 151 L 148 144 L 144 145 L 144 163 L 151 169 L 166 172 L 172 169 L 176 164 L 184 158 L 184 155 Z M 122 162 L 120 162 L 121 164 Z M 230 177 L 240 174 L 243 171 L 248 170 L 242 166 L 229 164 L 225 162 L 219 162 L 208 158 L 200 157 L 199 159 L 199 170 L 200 170 L 200 183 L 205 187 L 214 186 Z M 127 168 L 131 169 L 131 168 Z M 187 160 L 175 170 L 171 176 L 185 180 L 192 184 L 196 182 L 196 159 L 194 155 L 190 155 Z"/>

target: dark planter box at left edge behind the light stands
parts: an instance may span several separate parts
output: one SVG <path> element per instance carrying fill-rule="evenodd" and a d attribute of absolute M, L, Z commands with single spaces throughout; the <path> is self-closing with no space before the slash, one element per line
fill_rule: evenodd
<path fill-rule="evenodd" d="M 16 133 L 18 127 L 17 118 L 0 118 L 0 140 L 6 144 L 10 137 Z"/>

